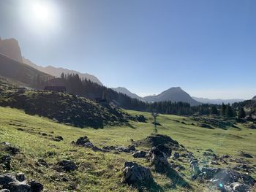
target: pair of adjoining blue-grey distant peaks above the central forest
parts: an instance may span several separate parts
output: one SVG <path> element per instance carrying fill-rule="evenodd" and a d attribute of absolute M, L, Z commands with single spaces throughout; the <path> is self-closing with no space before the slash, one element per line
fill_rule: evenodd
<path fill-rule="evenodd" d="M 191 105 L 198 105 L 200 102 L 195 101 L 195 99 L 192 99 L 191 96 L 189 96 L 188 93 L 183 91 L 180 87 L 176 88 L 170 88 L 166 91 L 163 91 L 162 93 L 159 93 L 158 95 L 155 96 L 145 96 L 145 97 L 140 97 L 136 95 L 135 93 L 130 92 L 127 90 L 127 88 L 112 88 L 114 91 L 118 93 L 124 93 L 127 96 L 130 96 L 135 99 L 140 99 L 142 101 L 148 101 L 148 102 L 157 102 L 157 101 L 173 101 L 173 102 L 186 102 Z"/>

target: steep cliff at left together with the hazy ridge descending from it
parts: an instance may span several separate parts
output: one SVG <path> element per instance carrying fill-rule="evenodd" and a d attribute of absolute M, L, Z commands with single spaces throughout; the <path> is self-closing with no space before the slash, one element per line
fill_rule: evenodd
<path fill-rule="evenodd" d="M 18 61 L 20 63 L 27 64 L 34 69 L 37 69 L 41 72 L 53 75 L 54 77 L 60 77 L 61 73 L 64 74 L 79 74 L 80 78 L 86 78 L 87 80 L 91 80 L 92 82 L 96 82 L 99 85 L 102 85 L 102 82 L 100 82 L 97 77 L 91 74 L 87 73 L 80 73 L 76 72 L 74 70 L 64 69 L 64 68 L 56 68 L 54 66 L 38 66 L 37 64 L 34 64 L 29 59 L 23 58 L 22 53 L 20 50 L 20 46 L 18 44 L 18 41 L 16 39 L 1 39 L 0 38 L 0 53 L 3 55 L 6 55 L 8 58 L 12 58 L 15 61 Z"/>

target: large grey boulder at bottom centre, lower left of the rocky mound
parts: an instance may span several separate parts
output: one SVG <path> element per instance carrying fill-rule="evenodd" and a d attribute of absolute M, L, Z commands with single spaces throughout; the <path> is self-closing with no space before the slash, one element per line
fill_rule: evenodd
<path fill-rule="evenodd" d="M 123 174 L 124 183 L 128 185 L 139 187 L 154 183 L 150 169 L 133 162 L 126 162 L 124 164 Z"/>

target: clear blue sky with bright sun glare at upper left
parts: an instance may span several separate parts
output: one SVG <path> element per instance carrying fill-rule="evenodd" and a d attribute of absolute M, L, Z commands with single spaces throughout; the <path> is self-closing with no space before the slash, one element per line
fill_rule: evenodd
<path fill-rule="evenodd" d="M 35 64 L 140 95 L 172 86 L 211 99 L 256 95 L 255 0 L 45 1 L 47 21 L 27 9 L 33 1 L 0 1 L 0 36 L 18 39 Z"/>

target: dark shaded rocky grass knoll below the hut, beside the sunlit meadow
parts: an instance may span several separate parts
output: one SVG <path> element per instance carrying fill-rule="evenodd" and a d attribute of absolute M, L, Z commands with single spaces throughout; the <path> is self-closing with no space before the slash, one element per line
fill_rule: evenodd
<path fill-rule="evenodd" d="M 106 125 L 127 123 L 121 110 L 66 93 L 19 91 L 12 88 L 1 91 L 0 106 L 15 107 L 30 115 L 40 115 L 81 128 L 103 128 Z"/>

